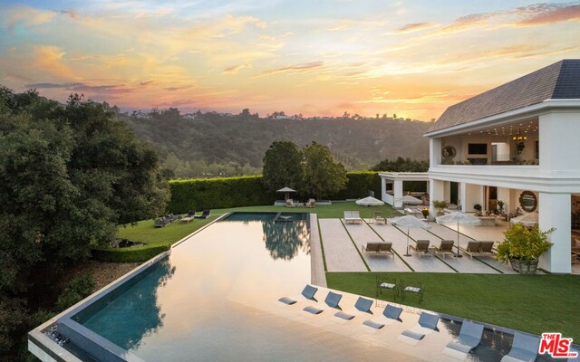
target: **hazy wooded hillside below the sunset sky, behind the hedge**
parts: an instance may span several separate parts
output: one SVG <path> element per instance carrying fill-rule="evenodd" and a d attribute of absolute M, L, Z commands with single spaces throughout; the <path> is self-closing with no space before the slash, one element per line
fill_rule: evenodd
<path fill-rule="evenodd" d="M 214 112 L 183 117 L 175 109 L 119 118 L 157 148 L 180 177 L 258 173 L 266 149 L 280 139 L 300 147 L 313 140 L 326 145 L 351 170 L 385 158 L 429 157 L 422 135 L 430 124 L 418 120 L 258 119 Z"/>

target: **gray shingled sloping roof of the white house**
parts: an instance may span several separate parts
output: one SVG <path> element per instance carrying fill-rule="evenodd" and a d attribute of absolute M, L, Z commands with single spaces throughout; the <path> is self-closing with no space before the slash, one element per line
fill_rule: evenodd
<path fill-rule="evenodd" d="M 544 100 L 580 99 L 580 59 L 548 65 L 449 107 L 430 132 L 517 110 Z"/>

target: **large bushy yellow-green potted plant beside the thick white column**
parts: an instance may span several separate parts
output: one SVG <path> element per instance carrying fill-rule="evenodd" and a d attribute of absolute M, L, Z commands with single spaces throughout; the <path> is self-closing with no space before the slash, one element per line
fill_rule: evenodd
<path fill-rule="evenodd" d="M 535 274 L 540 255 L 554 244 L 547 241 L 548 235 L 554 230 L 551 228 L 543 232 L 537 225 L 532 228 L 512 225 L 504 232 L 504 242 L 498 245 L 496 260 L 510 262 L 512 269 L 522 274 Z"/>

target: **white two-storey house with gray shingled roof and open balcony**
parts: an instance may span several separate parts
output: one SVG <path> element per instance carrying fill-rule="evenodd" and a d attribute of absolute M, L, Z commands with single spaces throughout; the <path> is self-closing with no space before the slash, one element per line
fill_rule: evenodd
<path fill-rule="evenodd" d="M 556 228 L 540 267 L 571 271 L 571 243 L 580 239 L 580 60 L 451 106 L 425 137 L 432 213 L 433 200 L 465 212 L 503 205 L 506 214 L 537 213 L 541 230 Z"/>

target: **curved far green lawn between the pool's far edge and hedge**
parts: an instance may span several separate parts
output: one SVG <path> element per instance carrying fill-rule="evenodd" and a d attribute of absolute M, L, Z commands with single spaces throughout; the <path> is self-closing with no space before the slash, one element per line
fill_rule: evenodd
<path fill-rule="evenodd" d="M 343 212 L 345 210 L 359 210 L 361 211 L 362 217 L 368 217 L 369 214 L 372 214 L 375 211 L 382 212 L 384 217 L 391 217 L 391 212 L 397 213 L 394 211 L 391 206 L 383 205 L 383 206 L 373 206 L 371 208 L 366 206 L 360 206 L 354 204 L 354 202 L 346 202 L 346 201 L 338 201 L 334 202 L 333 205 L 328 206 L 316 206 L 314 208 L 305 208 L 305 207 L 295 207 L 295 208 L 288 208 L 285 206 L 247 206 L 247 207 L 236 207 L 236 208 L 229 208 L 229 209 L 215 209 L 211 210 L 211 217 L 206 220 L 195 219 L 191 221 L 189 224 L 181 223 L 180 221 L 176 221 L 172 224 L 169 224 L 165 227 L 161 227 L 156 229 L 154 227 L 154 222 L 152 220 L 144 220 L 137 223 L 137 225 L 131 226 L 121 226 L 119 228 L 119 233 L 117 233 L 117 237 L 129 239 L 133 242 L 141 242 L 147 243 L 149 245 L 157 245 L 157 244 L 167 244 L 167 243 L 176 243 L 183 237 L 189 235 L 189 233 L 193 233 L 202 226 L 210 223 L 211 221 L 215 220 L 219 215 L 232 213 L 235 211 L 247 211 L 247 212 L 297 212 L 297 213 L 314 213 L 318 214 L 319 218 L 339 218 L 343 217 Z"/>

